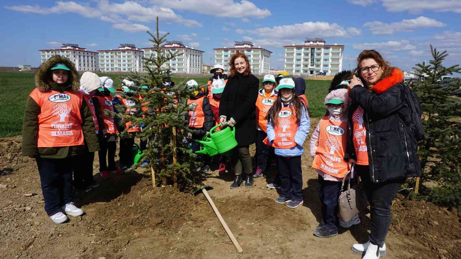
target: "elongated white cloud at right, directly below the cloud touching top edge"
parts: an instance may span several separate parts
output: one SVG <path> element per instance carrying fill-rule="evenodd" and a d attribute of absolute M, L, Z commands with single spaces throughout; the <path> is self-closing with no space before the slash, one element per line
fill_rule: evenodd
<path fill-rule="evenodd" d="M 447 24 L 439 22 L 435 19 L 420 16 L 411 20 L 403 19 L 402 22 L 398 23 L 386 24 L 383 22 L 374 21 L 363 24 L 363 26 L 370 28 L 373 34 L 390 35 L 397 31 L 414 31 L 415 29 L 445 27 Z"/>

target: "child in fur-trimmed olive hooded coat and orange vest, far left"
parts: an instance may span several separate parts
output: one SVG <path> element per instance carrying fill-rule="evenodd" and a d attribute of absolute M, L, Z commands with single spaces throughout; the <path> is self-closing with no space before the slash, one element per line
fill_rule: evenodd
<path fill-rule="evenodd" d="M 98 139 L 69 59 L 48 59 L 35 74 L 35 85 L 24 111 L 22 151 L 37 162 L 45 211 L 63 223 L 66 214 L 83 214 L 72 202 L 72 160 L 83 153 L 84 141 L 89 152 L 98 151 Z"/>

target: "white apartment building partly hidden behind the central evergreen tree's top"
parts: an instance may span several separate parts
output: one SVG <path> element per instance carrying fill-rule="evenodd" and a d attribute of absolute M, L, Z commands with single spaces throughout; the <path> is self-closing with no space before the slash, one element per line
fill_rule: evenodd
<path fill-rule="evenodd" d="M 157 55 L 154 47 L 143 49 L 144 58 Z M 164 69 L 169 67 L 172 73 L 201 74 L 204 51 L 184 45 L 182 41 L 165 41 L 165 44 L 162 45 L 162 54 L 165 55 L 168 51 L 179 52 L 179 56 L 171 59 L 169 63 L 163 64 Z"/>

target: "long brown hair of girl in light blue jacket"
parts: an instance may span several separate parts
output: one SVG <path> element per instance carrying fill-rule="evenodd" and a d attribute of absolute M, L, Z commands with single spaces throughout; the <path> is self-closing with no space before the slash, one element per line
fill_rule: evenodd
<path fill-rule="evenodd" d="M 272 125 L 274 126 L 278 124 L 278 112 L 280 112 L 280 110 L 282 109 L 282 91 L 280 90 L 278 90 L 277 100 L 275 100 L 275 102 L 272 104 L 272 107 L 267 112 L 265 118 L 268 123 L 272 123 Z M 290 110 L 293 114 L 296 114 L 296 124 L 299 124 L 299 122 L 301 121 L 302 110 L 305 109 L 306 115 L 309 114 L 309 110 L 299 99 L 299 96 L 296 94 L 295 88 L 291 90 L 293 91 L 293 97 L 291 97 L 288 107 L 290 107 Z M 295 110 L 293 111 L 293 109 Z"/>

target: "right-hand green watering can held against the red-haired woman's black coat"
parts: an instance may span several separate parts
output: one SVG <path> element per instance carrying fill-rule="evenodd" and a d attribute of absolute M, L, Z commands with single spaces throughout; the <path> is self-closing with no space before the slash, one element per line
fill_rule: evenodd
<path fill-rule="evenodd" d="M 221 126 L 223 126 L 223 124 L 218 124 L 211 128 L 210 137 L 220 154 L 231 156 L 232 149 L 237 146 L 237 141 L 235 140 L 235 128 L 224 127 L 215 131 L 216 128 Z"/>

